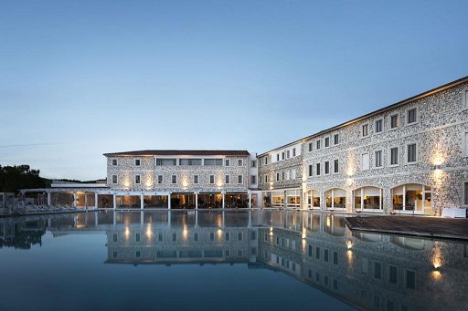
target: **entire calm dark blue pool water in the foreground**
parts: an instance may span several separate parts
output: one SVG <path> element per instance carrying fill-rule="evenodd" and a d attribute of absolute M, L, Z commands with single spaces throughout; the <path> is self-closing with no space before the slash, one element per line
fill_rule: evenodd
<path fill-rule="evenodd" d="M 0 219 L 0 309 L 465 310 L 468 246 L 279 211 Z"/>

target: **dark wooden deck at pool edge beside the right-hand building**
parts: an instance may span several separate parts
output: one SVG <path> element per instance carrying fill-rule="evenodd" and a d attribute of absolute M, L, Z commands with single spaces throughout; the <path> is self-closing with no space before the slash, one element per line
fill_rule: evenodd
<path fill-rule="evenodd" d="M 468 219 L 424 216 L 346 217 L 353 231 L 468 240 Z"/>

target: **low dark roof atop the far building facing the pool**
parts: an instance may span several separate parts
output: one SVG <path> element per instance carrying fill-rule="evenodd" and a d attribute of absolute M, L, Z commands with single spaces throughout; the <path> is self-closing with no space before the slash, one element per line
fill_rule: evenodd
<path fill-rule="evenodd" d="M 115 156 L 250 156 L 247 150 L 134 150 L 123 152 L 104 153 L 106 157 Z"/>

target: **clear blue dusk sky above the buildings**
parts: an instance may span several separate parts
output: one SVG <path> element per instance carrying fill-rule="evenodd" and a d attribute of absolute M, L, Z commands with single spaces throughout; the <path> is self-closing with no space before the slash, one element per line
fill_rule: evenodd
<path fill-rule="evenodd" d="M 264 152 L 468 75 L 466 1 L 2 1 L 0 164 Z"/>

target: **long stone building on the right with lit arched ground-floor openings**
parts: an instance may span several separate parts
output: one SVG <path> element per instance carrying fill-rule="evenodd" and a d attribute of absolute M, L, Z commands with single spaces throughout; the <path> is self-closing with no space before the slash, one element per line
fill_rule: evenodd
<path fill-rule="evenodd" d="M 295 188 L 305 209 L 440 215 L 467 207 L 467 98 L 462 78 L 259 155 L 263 206 L 296 207 L 279 199 Z M 285 157 L 292 148 L 296 157 Z M 290 169 L 295 179 L 284 178 Z"/>

